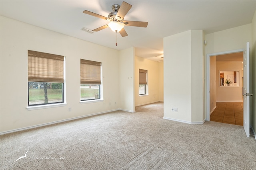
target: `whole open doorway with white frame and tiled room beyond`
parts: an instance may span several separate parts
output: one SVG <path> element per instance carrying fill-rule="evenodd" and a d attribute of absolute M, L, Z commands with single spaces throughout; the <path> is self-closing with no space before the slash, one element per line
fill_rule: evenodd
<path fill-rule="evenodd" d="M 240 49 L 207 55 L 206 120 L 243 124 L 243 52 Z M 229 72 L 225 75 L 224 71 Z M 231 76 L 232 72 L 234 74 Z M 230 84 L 226 82 L 227 79 L 231 79 Z"/>

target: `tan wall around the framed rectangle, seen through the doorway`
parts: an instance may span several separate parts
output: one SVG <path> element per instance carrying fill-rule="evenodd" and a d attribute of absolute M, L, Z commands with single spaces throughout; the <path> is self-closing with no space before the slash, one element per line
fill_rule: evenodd
<path fill-rule="evenodd" d="M 216 102 L 243 102 L 242 95 L 242 78 L 243 78 L 243 64 L 242 61 L 216 61 Z M 239 87 L 220 87 L 219 71 L 236 70 L 239 71 Z M 232 72 L 233 73 L 233 72 Z M 225 77 L 224 77 L 224 80 Z"/>

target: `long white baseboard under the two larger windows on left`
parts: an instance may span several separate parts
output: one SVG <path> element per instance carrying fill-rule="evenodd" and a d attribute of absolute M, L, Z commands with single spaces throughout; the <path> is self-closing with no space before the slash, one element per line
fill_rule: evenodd
<path fill-rule="evenodd" d="M 33 129 L 33 128 L 36 128 L 36 127 L 43 127 L 43 126 L 52 125 L 52 124 L 56 124 L 56 123 L 62 123 L 62 122 L 65 122 L 65 121 L 71 121 L 71 120 L 75 120 L 75 119 L 81 119 L 81 118 L 84 118 L 84 117 L 99 115 L 99 114 L 108 113 L 108 112 L 117 111 L 117 110 L 120 110 L 120 109 L 102 111 L 102 112 L 93 113 L 93 114 L 89 114 L 89 115 L 73 117 L 73 118 L 70 118 L 70 119 L 64 119 L 64 120 L 60 120 L 60 121 L 53 121 L 53 122 L 50 122 L 50 123 L 43 123 L 43 124 L 40 124 L 40 125 L 34 125 L 34 126 L 29 126 L 29 127 L 23 127 L 23 128 L 14 129 L 14 130 L 11 130 L 11 131 L 4 131 L 4 132 L 1 132 L 0 135 L 4 135 L 4 134 L 7 134 L 7 133 L 18 132 L 18 131 L 24 131 L 24 130 Z"/>

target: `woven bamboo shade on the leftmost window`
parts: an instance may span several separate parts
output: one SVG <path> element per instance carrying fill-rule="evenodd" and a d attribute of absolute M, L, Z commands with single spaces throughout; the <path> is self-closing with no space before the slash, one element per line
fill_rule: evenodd
<path fill-rule="evenodd" d="M 28 50 L 29 82 L 64 82 L 64 56 Z"/>

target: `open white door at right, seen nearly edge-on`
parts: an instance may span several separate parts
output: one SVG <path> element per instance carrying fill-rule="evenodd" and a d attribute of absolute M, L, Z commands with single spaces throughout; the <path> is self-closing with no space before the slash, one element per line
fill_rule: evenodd
<path fill-rule="evenodd" d="M 244 51 L 244 131 L 250 137 L 250 72 L 249 72 L 249 42 Z"/>

